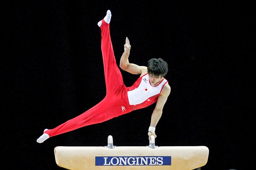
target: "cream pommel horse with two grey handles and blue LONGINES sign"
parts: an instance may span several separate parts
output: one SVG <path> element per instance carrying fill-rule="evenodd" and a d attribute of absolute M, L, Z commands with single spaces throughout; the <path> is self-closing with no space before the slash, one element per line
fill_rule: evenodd
<path fill-rule="evenodd" d="M 207 163 L 209 149 L 158 147 L 153 135 L 148 146 L 116 147 L 109 135 L 105 147 L 57 146 L 54 153 L 57 165 L 68 170 L 200 170 Z"/>

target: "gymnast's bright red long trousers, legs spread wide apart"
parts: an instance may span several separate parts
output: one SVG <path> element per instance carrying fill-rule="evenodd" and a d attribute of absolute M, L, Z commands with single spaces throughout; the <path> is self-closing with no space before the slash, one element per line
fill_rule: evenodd
<path fill-rule="evenodd" d="M 76 130 L 84 126 L 105 122 L 114 117 L 131 112 L 131 106 L 129 105 L 127 96 L 128 88 L 125 87 L 122 74 L 116 65 L 109 24 L 106 23 L 105 20 L 102 20 L 100 28 L 107 91 L 106 96 L 101 102 L 88 111 L 64 122 L 54 129 L 46 130 L 44 133 L 47 133 L 49 137 Z"/>

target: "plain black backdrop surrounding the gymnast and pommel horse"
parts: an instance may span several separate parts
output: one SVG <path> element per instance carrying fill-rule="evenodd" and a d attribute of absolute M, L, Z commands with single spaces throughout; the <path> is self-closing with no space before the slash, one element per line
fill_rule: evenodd
<path fill-rule="evenodd" d="M 172 88 L 157 125 L 157 146 L 207 146 L 202 170 L 247 170 L 253 153 L 255 67 L 252 4 L 233 1 L 2 2 L 2 167 L 62 170 L 56 146 L 148 145 L 154 105 L 97 125 L 36 139 L 105 96 L 101 34 L 112 12 L 117 64 L 125 37 L 130 62 L 169 64 Z M 126 86 L 138 78 L 122 71 Z"/>

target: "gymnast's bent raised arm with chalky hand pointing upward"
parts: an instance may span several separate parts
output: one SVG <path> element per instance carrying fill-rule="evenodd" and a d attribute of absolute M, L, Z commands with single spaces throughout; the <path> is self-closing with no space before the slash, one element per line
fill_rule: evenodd
<path fill-rule="evenodd" d="M 147 68 L 145 66 L 139 66 L 129 62 L 128 57 L 130 55 L 131 45 L 127 37 L 125 39 L 124 47 L 125 47 L 124 52 L 120 59 L 120 65 L 119 65 L 120 68 L 122 68 L 122 70 L 127 71 L 131 74 L 142 74 L 143 71 L 146 71 Z"/>

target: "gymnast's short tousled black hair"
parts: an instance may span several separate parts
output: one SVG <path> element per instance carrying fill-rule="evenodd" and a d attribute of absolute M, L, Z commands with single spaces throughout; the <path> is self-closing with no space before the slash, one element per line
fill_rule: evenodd
<path fill-rule="evenodd" d="M 164 77 L 168 72 L 168 64 L 161 58 L 148 60 L 148 74 Z"/>

